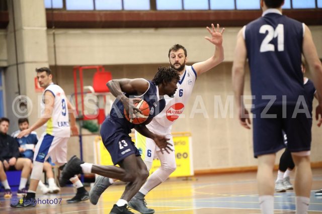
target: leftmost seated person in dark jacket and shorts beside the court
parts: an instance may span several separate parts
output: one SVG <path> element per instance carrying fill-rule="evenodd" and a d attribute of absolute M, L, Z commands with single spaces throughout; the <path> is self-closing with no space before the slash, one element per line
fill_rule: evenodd
<path fill-rule="evenodd" d="M 9 119 L 0 119 L 0 180 L 5 187 L 5 198 L 11 198 L 12 192 L 8 184 L 5 171 L 22 170 L 18 196 L 27 194 L 27 180 L 31 172 L 31 160 L 28 158 L 19 158 L 19 149 L 17 141 L 7 135 L 9 129 Z"/>

